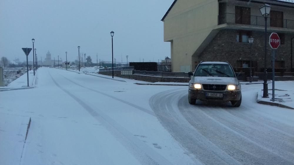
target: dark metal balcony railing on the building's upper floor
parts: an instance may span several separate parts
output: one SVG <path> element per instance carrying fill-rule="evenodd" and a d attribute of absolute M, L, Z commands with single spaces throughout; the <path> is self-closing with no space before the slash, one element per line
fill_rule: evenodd
<path fill-rule="evenodd" d="M 223 23 L 264 26 L 265 21 L 264 17 L 262 16 L 241 16 L 233 13 L 225 13 L 218 16 L 218 25 Z M 267 21 L 267 26 L 294 29 L 294 20 L 275 19 L 269 17 Z"/>

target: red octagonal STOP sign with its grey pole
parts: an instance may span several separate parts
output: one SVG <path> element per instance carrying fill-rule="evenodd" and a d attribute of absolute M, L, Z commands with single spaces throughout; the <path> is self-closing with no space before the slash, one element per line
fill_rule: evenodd
<path fill-rule="evenodd" d="M 275 49 L 280 46 L 280 37 L 277 33 L 270 35 L 270 47 L 273 49 L 273 102 L 275 102 Z"/>

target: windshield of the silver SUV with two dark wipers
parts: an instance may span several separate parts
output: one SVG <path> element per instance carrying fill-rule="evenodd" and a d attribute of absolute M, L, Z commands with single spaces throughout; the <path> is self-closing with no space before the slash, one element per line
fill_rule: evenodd
<path fill-rule="evenodd" d="M 235 77 L 228 64 L 199 64 L 194 76 Z"/>

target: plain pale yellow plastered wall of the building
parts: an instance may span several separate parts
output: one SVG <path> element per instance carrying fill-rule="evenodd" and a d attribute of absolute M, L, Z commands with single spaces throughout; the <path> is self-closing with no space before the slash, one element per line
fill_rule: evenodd
<path fill-rule="evenodd" d="M 218 1 L 178 0 L 163 21 L 164 41 L 171 42 L 172 72 L 189 72 L 198 61 L 192 56 L 218 24 Z"/>

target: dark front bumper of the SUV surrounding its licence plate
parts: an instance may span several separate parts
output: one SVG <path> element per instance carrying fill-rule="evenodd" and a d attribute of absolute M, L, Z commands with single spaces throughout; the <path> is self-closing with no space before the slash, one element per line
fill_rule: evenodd
<path fill-rule="evenodd" d="M 206 97 L 205 93 L 223 93 L 222 98 Z M 189 97 L 201 101 L 238 101 L 241 98 L 241 91 L 202 91 L 189 89 Z"/>

